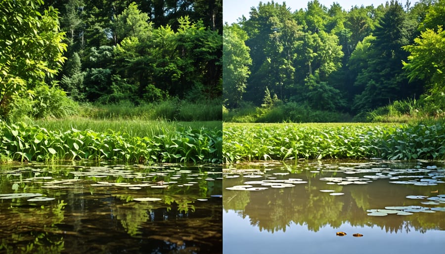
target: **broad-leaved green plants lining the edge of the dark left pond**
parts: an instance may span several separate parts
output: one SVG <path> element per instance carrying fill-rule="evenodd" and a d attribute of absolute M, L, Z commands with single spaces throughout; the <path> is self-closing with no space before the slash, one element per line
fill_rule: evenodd
<path fill-rule="evenodd" d="M 19 161 L 116 160 L 126 163 L 221 162 L 222 132 L 184 128 L 152 137 L 107 130 L 46 130 L 24 123 L 0 123 L 0 154 Z"/>

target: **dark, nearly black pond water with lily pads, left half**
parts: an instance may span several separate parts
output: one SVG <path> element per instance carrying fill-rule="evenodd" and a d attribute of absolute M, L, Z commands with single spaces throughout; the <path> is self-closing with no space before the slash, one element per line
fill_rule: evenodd
<path fill-rule="evenodd" d="M 0 253 L 222 253 L 222 170 L 0 166 Z"/>

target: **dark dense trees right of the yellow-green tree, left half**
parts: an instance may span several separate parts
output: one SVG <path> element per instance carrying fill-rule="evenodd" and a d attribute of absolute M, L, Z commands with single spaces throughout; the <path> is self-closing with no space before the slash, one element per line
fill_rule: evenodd
<path fill-rule="evenodd" d="M 222 92 L 222 1 L 54 1 L 60 85 L 78 100 L 206 99 Z"/>

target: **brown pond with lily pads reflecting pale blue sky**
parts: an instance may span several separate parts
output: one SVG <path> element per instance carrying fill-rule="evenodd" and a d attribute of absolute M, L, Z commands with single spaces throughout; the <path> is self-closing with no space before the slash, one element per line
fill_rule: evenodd
<path fill-rule="evenodd" d="M 438 161 L 293 161 L 223 169 L 223 250 L 444 253 Z"/>

